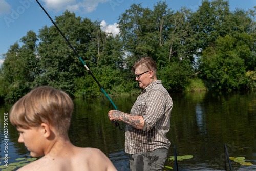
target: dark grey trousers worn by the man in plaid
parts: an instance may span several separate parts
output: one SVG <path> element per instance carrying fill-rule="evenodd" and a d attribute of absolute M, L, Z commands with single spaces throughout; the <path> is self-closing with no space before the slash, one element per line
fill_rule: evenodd
<path fill-rule="evenodd" d="M 131 171 L 162 170 L 167 158 L 168 149 L 159 148 L 151 152 L 130 154 Z"/>

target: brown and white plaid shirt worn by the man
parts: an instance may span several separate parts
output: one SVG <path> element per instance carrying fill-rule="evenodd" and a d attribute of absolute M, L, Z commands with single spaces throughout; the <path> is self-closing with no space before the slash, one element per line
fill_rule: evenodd
<path fill-rule="evenodd" d="M 170 113 L 173 101 L 161 80 L 148 85 L 139 95 L 131 109 L 131 115 L 142 116 L 143 130 L 127 124 L 125 132 L 125 152 L 136 154 L 150 152 L 158 148 L 169 148 L 166 133 L 170 129 Z"/>

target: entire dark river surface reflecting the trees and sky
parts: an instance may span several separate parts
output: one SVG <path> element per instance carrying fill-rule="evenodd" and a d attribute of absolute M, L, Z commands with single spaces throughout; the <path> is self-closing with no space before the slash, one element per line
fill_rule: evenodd
<path fill-rule="evenodd" d="M 174 107 L 167 138 L 172 142 L 168 155 L 173 156 L 176 145 L 179 156 L 193 155 L 179 162 L 179 169 L 224 169 L 224 143 L 229 155 L 244 156 L 252 166 L 232 162 L 233 170 L 256 169 L 256 92 L 191 92 L 171 94 Z M 112 97 L 117 108 L 129 113 L 134 96 Z M 128 155 L 124 152 L 124 131 L 106 117 L 113 109 L 108 99 L 75 99 L 69 137 L 74 145 L 101 149 L 118 170 L 129 170 Z M 0 126 L 3 114 L 10 105 L 0 106 Z M 124 129 L 125 124 L 120 122 Z M 29 153 L 17 143 L 18 134 L 9 123 L 10 162 Z M 3 157 L 3 135 L 1 134 Z"/>

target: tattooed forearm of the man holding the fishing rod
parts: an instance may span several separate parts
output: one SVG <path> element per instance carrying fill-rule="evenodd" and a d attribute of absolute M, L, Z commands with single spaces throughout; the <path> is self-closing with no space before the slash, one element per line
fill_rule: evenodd
<path fill-rule="evenodd" d="M 131 126 L 133 126 L 135 128 L 138 128 L 139 126 L 142 125 L 140 118 L 138 118 L 136 116 L 129 115 L 129 114 L 121 112 L 121 111 L 113 112 L 113 116 L 122 119 L 125 123 L 130 124 Z"/>

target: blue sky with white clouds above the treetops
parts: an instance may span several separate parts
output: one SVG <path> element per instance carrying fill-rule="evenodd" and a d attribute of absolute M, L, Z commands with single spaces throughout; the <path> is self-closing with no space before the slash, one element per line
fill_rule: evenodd
<path fill-rule="evenodd" d="M 48 14 L 54 19 L 65 10 L 74 12 L 76 16 L 89 18 L 92 22 L 101 22 L 106 32 L 117 34 L 119 16 L 130 9 L 132 4 L 140 4 L 143 8 L 153 9 L 159 0 L 38 0 Z M 179 10 L 187 7 L 195 12 L 202 0 L 166 0 L 168 8 Z M 229 0 L 231 11 L 236 8 L 253 9 L 256 0 Z M 35 0 L 0 0 L 0 65 L 11 45 L 19 43 L 19 39 L 32 30 L 38 35 L 39 29 L 53 25 L 51 20 Z"/>

